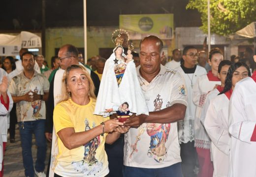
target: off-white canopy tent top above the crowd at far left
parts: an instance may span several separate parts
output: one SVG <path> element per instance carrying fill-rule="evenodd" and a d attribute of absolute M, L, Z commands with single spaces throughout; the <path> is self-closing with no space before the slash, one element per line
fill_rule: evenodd
<path fill-rule="evenodd" d="M 41 37 L 28 31 L 18 35 L 0 34 L 0 56 L 19 55 L 21 48 L 42 47 Z"/>

